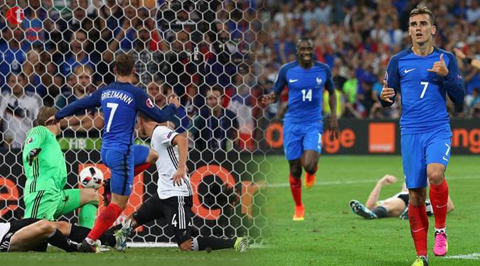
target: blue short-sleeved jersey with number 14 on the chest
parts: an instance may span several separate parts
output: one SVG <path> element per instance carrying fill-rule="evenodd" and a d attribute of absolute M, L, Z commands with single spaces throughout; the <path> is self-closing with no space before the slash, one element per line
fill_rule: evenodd
<path fill-rule="evenodd" d="M 289 123 L 320 121 L 324 88 L 329 92 L 335 89 L 330 67 L 317 61 L 309 69 L 297 61 L 283 65 L 273 87 L 277 97 L 285 86 L 289 92 L 284 121 Z"/>

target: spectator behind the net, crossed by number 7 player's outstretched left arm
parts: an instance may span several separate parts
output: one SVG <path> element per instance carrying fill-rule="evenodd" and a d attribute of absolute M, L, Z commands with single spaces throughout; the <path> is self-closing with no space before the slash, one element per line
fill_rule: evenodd
<path fill-rule="evenodd" d="M 75 67 L 73 74 L 68 77 L 68 85 L 70 91 L 65 89 L 62 94 L 58 95 L 55 107 L 62 109 L 68 104 L 72 104 L 78 99 L 82 99 L 91 92 L 95 91 L 92 85 L 93 70 L 88 65 L 78 65 Z M 98 109 L 89 109 L 87 111 L 80 111 L 75 116 L 60 121 L 62 128 L 69 128 L 73 131 L 88 132 L 93 130 L 100 131 L 103 128 L 102 114 Z"/>

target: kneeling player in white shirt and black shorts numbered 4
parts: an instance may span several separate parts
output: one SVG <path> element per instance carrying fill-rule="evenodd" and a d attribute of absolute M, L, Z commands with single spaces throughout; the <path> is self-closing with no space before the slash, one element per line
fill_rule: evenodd
<path fill-rule="evenodd" d="M 144 135 L 151 138 L 151 148 L 159 153 L 156 170 L 159 172 L 157 194 L 151 196 L 115 235 L 122 238 L 122 249 L 134 228 L 164 218 L 175 228 L 178 248 L 187 250 L 219 250 L 235 248 L 239 252 L 248 249 L 249 238 L 233 239 L 192 237 L 192 189 L 187 174 L 186 160 L 188 140 L 174 131 L 171 122 L 158 124 L 147 116 L 139 117 L 138 125 Z"/>

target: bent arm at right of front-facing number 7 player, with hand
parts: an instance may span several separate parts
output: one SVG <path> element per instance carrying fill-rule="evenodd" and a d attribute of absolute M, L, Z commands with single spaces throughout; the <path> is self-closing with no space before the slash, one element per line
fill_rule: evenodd
<path fill-rule="evenodd" d="M 434 65 L 428 71 L 435 72 L 443 77 L 442 87 L 447 91 L 448 96 L 454 104 L 462 104 L 465 97 L 462 76 L 459 73 L 459 67 L 454 55 L 447 53 L 449 57 L 448 66 L 444 60 L 444 54 L 440 55 L 439 61 L 434 62 Z"/>

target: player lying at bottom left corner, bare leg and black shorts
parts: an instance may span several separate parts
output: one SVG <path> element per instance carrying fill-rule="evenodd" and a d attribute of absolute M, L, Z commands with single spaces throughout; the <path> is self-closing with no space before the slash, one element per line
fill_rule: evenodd
<path fill-rule="evenodd" d="M 0 252 L 45 252 L 48 244 L 66 252 L 75 252 L 78 251 L 77 243 L 82 242 L 88 232 L 89 228 L 74 226 L 65 221 L 53 222 L 37 218 L 0 223 Z M 113 235 L 102 235 L 100 240 L 112 247 L 117 244 Z"/>

